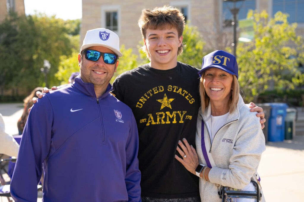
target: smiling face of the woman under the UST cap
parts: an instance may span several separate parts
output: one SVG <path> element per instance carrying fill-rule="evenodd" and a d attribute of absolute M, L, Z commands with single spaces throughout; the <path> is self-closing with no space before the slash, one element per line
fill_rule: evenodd
<path fill-rule="evenodd" d="M 228 104 L 231 97 L 233 75 L 218 69 L 210 68 L 204 72 L 203 84 L 211 102 Z"/>

